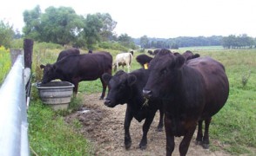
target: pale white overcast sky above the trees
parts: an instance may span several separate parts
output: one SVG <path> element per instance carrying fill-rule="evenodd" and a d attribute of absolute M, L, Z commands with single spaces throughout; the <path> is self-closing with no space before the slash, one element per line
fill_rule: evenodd
<path fill-rule="evenodd" d="M 37 5 L 43 13 L 50 6 L 71 7 L 84 17 L 109 13 L 118 23 L 114 29 L 118 36 L 256 37 L 255 0 L 6 0 L 0 20 L 22 31 L 24 10 L 33 10 Z"/>

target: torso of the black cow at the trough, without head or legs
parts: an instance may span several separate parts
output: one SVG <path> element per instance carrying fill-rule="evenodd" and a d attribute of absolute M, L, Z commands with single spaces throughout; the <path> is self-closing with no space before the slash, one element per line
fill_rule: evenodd
<path fill-rule="evenodd" d="M 96 80 L 104 73 L 111 73 L 112 56 L 108 52 L 83 55 L 68 55 L 54 66 L 64 81 L 77 78 L 79 81 Z"/>

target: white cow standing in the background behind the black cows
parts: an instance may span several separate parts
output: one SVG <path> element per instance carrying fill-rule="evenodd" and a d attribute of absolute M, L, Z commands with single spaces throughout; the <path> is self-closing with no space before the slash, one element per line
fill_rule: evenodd
<path fill-rule="evenodd" d="M 122 66 L 124 68 L 124 66 L 126 65 L 129 73 L 131 68 L 131 60 L 132 60 L 131 53 L 120 53 L 116 55 L 116 59 L 113 63 L 114 71 L 117 71 L 119 66 Z"/>

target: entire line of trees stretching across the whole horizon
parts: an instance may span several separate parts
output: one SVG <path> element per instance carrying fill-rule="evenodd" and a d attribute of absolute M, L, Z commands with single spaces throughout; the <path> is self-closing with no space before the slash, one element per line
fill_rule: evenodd
<path fill-rule="evenodd" d="M 37 5 L 24 11 L 23 34 L 14 31 L 9 23 L 0 21 L 0 46 L 10 48 L 14 38 L 30 38 L 37 42 L 53 42 L 84 49 L 179 49 L 192 46 L 223 46 L 226 49 L 255 48 L 256 39 L 246 34 L 239 36 L 179 36 L 176 38 L 131 38 L 118 36 L 114 29 L 118 24 L 108 13 L 77 15 L 71 7 L 53 6 L 41 11 Z"/>

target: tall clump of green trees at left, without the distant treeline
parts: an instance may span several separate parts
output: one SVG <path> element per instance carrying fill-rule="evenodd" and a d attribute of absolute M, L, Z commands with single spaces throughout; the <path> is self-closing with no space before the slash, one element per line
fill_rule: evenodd
<path fill-rule="evenodd" d="M 4 31 L 8 42 L 0 38 L 0 45 L 10 47 L 10 38 L 15 36 L 30 38 L 37 42 L 53 42 L 70 45 L 76 48 L 96 49 L 97 47 L 112 49 L 136 49 L 131 36 L 118 36 L 113 30 L 115 22 L 108 13 L 77 15 L 71 7 L 53 6 L 41 11 L 37 5 L 33 10 L 24 11 L 23 35 L 14 31 L 9 23 L 0 23 L 0 32 Z"/>

